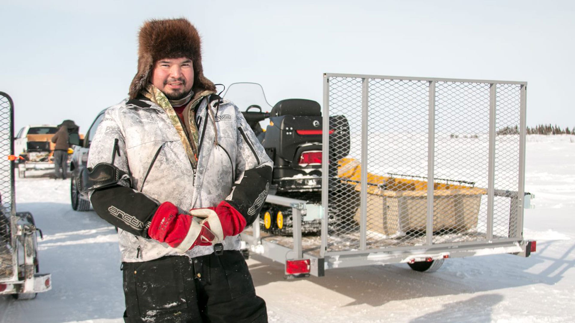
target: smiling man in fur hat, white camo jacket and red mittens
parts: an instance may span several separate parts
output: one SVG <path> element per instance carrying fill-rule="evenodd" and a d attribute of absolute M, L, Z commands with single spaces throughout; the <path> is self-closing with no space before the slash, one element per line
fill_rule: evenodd
<path fill-rule="evenodd" d="M 106 111 L 79 179 L 118 227 L 126 322 L 267 322 L 238 234 L 272 163 L 215 89 L 189 21 L 144 23 L 129 99 Z"/>

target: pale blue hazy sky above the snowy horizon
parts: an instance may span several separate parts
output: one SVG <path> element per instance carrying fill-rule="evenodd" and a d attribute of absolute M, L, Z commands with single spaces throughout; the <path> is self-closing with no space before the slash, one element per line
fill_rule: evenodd
<path fill-rule="evenodd" d="M 0 0 L 0 90 L 25 124 L 124 98 L 137 31 L 186 17 L 214 83 L 258 82 L 271 104 L 321 103 L 323 72 L 528 82 L 527 124 L 575 125 L 574 1 Z M 17 130 L 16 129 L 16 130 Z"/>

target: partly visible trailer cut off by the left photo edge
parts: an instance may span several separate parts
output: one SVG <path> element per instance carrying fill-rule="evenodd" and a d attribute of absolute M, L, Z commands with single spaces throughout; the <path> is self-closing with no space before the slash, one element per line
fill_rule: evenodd
<path fill-rule="evenodd" d="M 51 274 L 39 274 L 34 218 L 16 212 L 14 194 L 14 114 L 9 95 L 0 92 L 0 295 L 32 299 L 52 289 Z"/>

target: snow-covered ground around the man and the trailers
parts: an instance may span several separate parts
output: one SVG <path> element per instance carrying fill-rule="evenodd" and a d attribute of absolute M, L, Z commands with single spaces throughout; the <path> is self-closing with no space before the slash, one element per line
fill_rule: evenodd
<path fill-rule="evenodd" d="M 422 274 L 405 265 L 342 268 L 321 278 L 284 280 L 283 266 L 248 260 L 270 322 L 575 321 L 575 136 L 528 136 L 525 212 L 529 258 L 448 259 Z M 32 301 L 0 297 L 0 323 L 120 323 L 120 255 L 113 228 L 94 212 L 74 212 L 70 182 L 17 180 L 17 209 L 44 232 L 40 271 L 53 289 Z"/>

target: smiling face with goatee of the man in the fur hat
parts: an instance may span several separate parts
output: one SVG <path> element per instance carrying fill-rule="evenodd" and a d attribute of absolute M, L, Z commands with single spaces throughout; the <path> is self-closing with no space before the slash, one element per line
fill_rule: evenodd
<path fill-rule="evenodd" d="M 179 100 L 194 85 L 194 67 L 186 57 L 160 59 L 152 71 L 152 84 L 170 100 Z"/>

